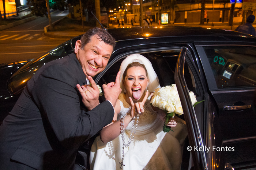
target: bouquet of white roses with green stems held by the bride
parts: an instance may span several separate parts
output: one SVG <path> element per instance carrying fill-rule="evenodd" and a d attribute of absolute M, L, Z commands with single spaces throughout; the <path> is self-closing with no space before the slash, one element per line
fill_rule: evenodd
<path fill-rule="evenodd" d="M 202 102 L 202 101 L 200 102 L 196 101 L 196 96 L 192 91 L 189 92 L 189 96 L 193 106 L 195 106 L 195 104 Z M 150 103 L 152 103 L 154 107 L 158 107 L 164 110 L 166 113 L 166 122 L 165 122 L 165 126 L 163 127 L 164 132 L 170 131 L 170 127 L 166 127 L 166 124 L 168 123 L 170 118 L 173 118 L 175 114 L 179 116 L 183 114 L 180 97 L 178 95 L 176 84 L 157 88 L 154 91 L 154 94 L 152 96 Z"/>

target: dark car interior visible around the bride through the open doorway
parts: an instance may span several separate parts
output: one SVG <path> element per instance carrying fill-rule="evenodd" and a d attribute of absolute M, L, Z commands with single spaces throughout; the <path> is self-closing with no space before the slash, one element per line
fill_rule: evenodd
<path fill-rule="evenodd" d="M 155 72 L 158 75 L 160 86 L 169 86 L 171 84 L 174 84 L 174 72 L 175 67 L 177 63 L 178 56 L 180 54 L 180 49 L 178 50 L 165 50 L 165 51 L 155 51 L 155 52 L 144 52 L 140 53 L 141 55 L 145 56 L 147 59 L 150 60 L 152 63 L 152 66 L 155 70 Z M 98 83 L 99 86 L 102 87 L 102 84 L 107 84 L 110 82 L 114 82 L 116 80 L 117 72 L 119 71 L 120 65 L 123 62 L 124 58 L 119 59 L 116 62 L 109 63 L 111 64 L 111 67 L 108 68 L 108 70 L 105 71 L 103 76 L 99 79 Z M 185 69 L 184 69 L 184 75 L 185 80 L 188 86 L 189 91 L 193 91 L 195 95 L 197 96 L 197 101 L 199 101 L 200 96 L 196 93 L 196 83 L 193 77 L 193 74 L 188 67 L 188 65 L 185 63 Z M 104 96 L 100 98 L 100 102 L 103 102 L 105 100 Z M 202 107 L 198 106 L 195 107 L 196 112 L 198 112 L 198 124 L 200 126 L 200 129 L 202 129 Z M 185 125 L 185 119 L 184 115 L 179 116 L 179 127 L 172 128 L 174 132 L 170 131 L 174 137 L 178 139 L 180 142 L 180 145 L 183 149 L 182 151 L 182 164 L 181 169 L 188 169 L 189 168 L 189 158 L 191 156 L 190 152 L 187 149 L 187 146 L 189 146 L 188 142 L 188 134 L 187 134 L 187 127 Z M 86 144 L 84 144 L 83 147 L 81 147 L 80 152 L 90 154 L 90 146 L 92 145 L 94 141 L 94 138 L 92 138 L 90 141 L 88 141 Z M 84 160 L 84 162 L 86 162 Z M 88 156 L 87 156 L 87 162 L 89 162 Z M 89 169 L 89 165 L 87 165 L 87 169 Z"/>

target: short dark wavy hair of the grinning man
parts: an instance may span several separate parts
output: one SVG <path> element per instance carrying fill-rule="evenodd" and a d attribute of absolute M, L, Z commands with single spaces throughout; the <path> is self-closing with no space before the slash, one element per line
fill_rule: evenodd
<path fill-rule="evenodd" d="M 84 35 L 81 37 L 81 49 L 83 50 L 84 46 L 91 41 L 91 37 L 94 35 L 98 35 L 100 41 L 103 41 L 106 44 L 109 44 L 114 48 L 116 46 L 116 40 L 108 33 L 108 31 L 101 29 L 101 28 L 93 28 L 89 29 Z"/>

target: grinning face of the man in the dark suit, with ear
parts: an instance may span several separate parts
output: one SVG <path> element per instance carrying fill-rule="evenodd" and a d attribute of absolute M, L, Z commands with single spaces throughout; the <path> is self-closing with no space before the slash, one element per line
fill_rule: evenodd
<path fill-rule="evenodd" d="M 113 47 L 100 40 L 98 35 L 92 36 L 90 42 L 84 46 L 83 50 L 81 49 L 81 41 L 76 41 L 76 58 L 81 64 L 86 77 L 93 77 L 102 72 L 106 68 L 112 54 Z"/>

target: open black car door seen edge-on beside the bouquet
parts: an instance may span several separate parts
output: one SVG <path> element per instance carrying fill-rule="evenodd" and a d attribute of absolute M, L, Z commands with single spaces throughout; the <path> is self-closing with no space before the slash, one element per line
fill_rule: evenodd
<path fill-rule="evenodd" d="M 177 60 L 176 69 L 175 69 L 175 83 L 177 86 L 178 94 L 180 96 L 182 109 L 184 112 L 184 118 L 186 121 L 187 131 L 188 131 L 188 139 L 189 145 L 191 149 L 190 154 L 190 166 L 189 169 L 196 169 L 196 170 L 205 170 L 207 168 L 206 163 L 206 155 L 204 151 L 197 151 L 194 148 L 204 147 L 202 142 L 202 137 L 200 134 L 199 126 L 196 120 L 196 114 L 191 103 L 191 99 L 189 97 L 189 91 L 187 84 L 185 82 L 184 76 L 184 65 L 185 65 L 185 56 L 187 55 L 188 48 L 182 47 L 180 55 Z M 184 149 L 189 149 L 184 148 Z M 191 158 L 192 157 L 192 158 Z"/>

